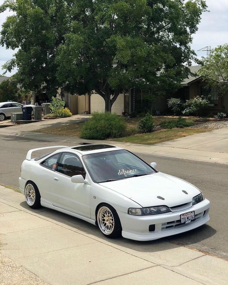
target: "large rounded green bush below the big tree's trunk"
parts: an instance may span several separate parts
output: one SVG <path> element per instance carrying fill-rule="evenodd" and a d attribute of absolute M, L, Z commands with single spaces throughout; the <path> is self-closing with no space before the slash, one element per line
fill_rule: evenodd
<path fill-rule="evenodd" d="M 125 135 L 127 125 L 121 117 L 109 112 L 94 113 L 90 120 L 84 123 L 81 138 L 89 140 L 105 140 Z"/>

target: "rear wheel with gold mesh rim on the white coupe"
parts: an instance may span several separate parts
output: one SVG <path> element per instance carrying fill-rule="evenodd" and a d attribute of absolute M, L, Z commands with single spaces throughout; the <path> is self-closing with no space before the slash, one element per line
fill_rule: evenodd
<path fill-rule="evenodd" d="M 26 184 L 24 190 L 25 201 L 30 208 L 37 209 L 41 207 L 40 204 L 40 192 L 37 185 L 32 181 Z"/>

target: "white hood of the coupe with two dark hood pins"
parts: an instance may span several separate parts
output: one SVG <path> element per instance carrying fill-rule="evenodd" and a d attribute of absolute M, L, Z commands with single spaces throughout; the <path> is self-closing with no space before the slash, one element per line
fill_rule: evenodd
<path fill-rule="evenodd" d="M 191 202 L 194 196 L 200 194 L 200 190 L 190 183 L 161 172 L 99 184 L 130 198 L 142 207 L 175 207 Z"/>

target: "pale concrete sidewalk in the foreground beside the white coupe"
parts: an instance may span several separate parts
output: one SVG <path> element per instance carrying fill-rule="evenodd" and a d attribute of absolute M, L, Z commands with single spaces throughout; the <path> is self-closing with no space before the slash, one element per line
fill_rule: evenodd
<path fill-rule="evenodd" d="M 22 194 L 3 186 L 0 234 L 0 250 L 8 262 L 43 284 L 228 283 L 228 262 L 221 258 L 164 240 L 109 240 L 82 220 L 30 209 Z M 0 263 L 2 271 L 6 267 Z M 3 284 L 14 283 L 4 279 Z"/>

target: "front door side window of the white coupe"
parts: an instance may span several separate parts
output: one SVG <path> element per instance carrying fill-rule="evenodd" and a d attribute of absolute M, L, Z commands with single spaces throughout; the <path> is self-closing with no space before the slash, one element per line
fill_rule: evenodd
<path fill-rule="evenodd" d="M 85 170 L 81 160 L 74 154 L 62 153 L 56 171 L 70 177 L 82 175 L 85 179 Z"/>

